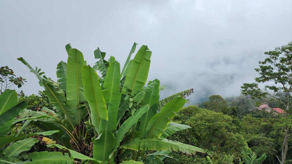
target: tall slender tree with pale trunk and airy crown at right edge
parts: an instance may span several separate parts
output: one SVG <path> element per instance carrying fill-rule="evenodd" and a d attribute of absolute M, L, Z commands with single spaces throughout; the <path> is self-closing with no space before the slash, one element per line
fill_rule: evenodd
<path fill-rule="evenodd" d="M 290 102 L 292 92 L 292 42 L 276 47 L 273 51 L 265 52 L 265 55 L 267 55 L 267 58 L 264 61 L 259 61 L 259 68 L 255 68 L 260 74 L 259 77 L 255 78 L 256 83 L 244 83 L 241 87 L 241 92 L 244 95 L 251 95 L 257 98 L 263 98 L 268 95 L 284 105 L 284 124 L 282 124 L 284 139 L 281 148 L 281 159 L 278 158 L 280 163 L 284 164 L 286 162 L 288 139 L 291 137 L 292 127 L 289 110 L 292 105 Z M 260 89 L 259 83 L 266 85 L 263 89 Z M 281 97 L 274 96 L 273 93 L 278 91 L 285 93 L 284 100 Z"/>

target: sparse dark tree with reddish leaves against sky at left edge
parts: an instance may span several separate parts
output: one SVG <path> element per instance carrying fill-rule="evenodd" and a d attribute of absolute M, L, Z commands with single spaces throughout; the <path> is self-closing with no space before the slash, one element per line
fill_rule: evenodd
<path fill-rule="evenodd" d="M 13 85 L 17 85 L 18 88 L 20 88 L 26 79 L 20 77 L 16 77 L 14 75 L 14 72 L 11 68 L 8 66 L 1 67 L 0 68 L 0 83 L 1 83 L 1 89 L 0 93 L 4 92 L 6 89 L 9 89 Z"/>

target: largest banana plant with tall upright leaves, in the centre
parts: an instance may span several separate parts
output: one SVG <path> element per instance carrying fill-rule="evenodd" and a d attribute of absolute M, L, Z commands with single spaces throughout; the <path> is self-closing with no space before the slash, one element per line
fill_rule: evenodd
<path fill-rule="evenodd" d="M 52 135 L 56 144 L 48 147 L 67 151 L 71 156 L 62 155 L 62 159 L 67 159 L 68 163 L 72 160 L 72 152 L 88 156 L 87 159 L 78 158 L 77 162 L 89 160 L 105 164 L 149 163 L 147 161 L 156 156 L 168 157 L 170 151 L 189 155 L 204 152 L 198 147 L 166 139 L 176 131 L 190 128 L 171 122 L 171 118 L 183 107 L 186 96 L 193 90 L 159 101 L 159 91 L 165 86 L 160 86 L 158 79 L 145 85 L 152 52 L 142 45 L 130 60 L 136 46 L 134 43 L 121 72 L 120 63 L 112 56 L 105 60 L 106 53 L 100 48 L 94 51 L 98 61 L 91 67 L 86 65 L 83 54 L 68 44 L 65 46 L 68 61 L 57 65 L 57 82 L 46 77 L 41 69 L 34 69 L 23 58 L 18 58 L 36 75 L 54 105 L 48 112 L 50 118 L 34 119 L 30 124 L 44 131 L 63 132 Z M 27 112 L 30 117 L 39 116 L 33 111 Z"/>

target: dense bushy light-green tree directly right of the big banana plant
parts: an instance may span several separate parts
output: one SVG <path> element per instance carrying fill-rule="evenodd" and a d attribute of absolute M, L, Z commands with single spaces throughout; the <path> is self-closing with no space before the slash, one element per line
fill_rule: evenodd
<path fill-rule="evenodd" d="M 191 128 L 176 132 L 169 138 L 199 145 L 209 154 L 214 163 L 239 161 L 241 150 L 250 150 L 243 135 L 239 134 L 240 121 L 237 118 L 191 105 L 180 109 L 173 121 L 189 125 Z M 205 159 L 206 155 L 201 158 Z M 168 163 L 176 163 L 176 160 L 169 158 L 167 160 Z M 181 163 L 189 160 L 183 158 Z"/>

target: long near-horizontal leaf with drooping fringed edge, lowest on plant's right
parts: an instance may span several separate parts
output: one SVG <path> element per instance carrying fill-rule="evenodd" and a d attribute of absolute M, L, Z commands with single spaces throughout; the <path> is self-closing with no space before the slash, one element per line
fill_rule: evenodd
<path fill-rule="evenodd" d="M 157 140 L 155 138 L 135 138 L 128 144 L 121 145 L 120 147 L 131 150 L 180 151 L 189 155 L 195 155 L 197 151 L 204 153 L 203 149 L 192 145 L 167 139 Z"/>

